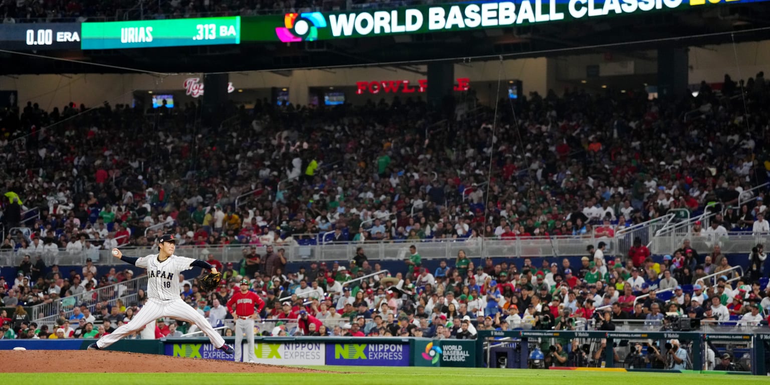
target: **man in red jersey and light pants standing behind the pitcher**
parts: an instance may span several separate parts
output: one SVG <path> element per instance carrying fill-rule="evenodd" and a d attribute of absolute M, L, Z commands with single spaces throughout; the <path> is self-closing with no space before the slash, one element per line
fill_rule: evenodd
<path fill-rule="evenodd" d="M 236 320 L 236 362 L 239 362 L 243 352 L 243 333 L 246 333 L 246 343 L 248 343 L 248 357 L 243 357 L 244 362 L 256 362 L 254 356 L 254 320 L 259 318 L 259 313 L 265 307 L 265 301 L 249 291 L 249 280 L 241 280 L 240 291 L 233 294 L 233 297 L 227 301 L 227 310 L 233 314 L 233 320 Z"/>

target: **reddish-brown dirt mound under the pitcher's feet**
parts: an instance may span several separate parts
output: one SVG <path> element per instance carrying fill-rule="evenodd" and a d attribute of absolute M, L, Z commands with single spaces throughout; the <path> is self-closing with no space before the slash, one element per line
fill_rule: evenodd
<path fill-rule="evenodd" d="M 312 373 L 321 370 L 93 350 L 0 350 L 0 373 Z"/>

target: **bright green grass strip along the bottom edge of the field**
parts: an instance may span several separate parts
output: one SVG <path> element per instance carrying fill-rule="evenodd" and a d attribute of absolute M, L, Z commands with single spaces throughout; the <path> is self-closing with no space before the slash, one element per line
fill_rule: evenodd
<path fill-rule="evenodd" d="M 196 383 L 259 385 L 300 385 L 330 383 L 333 385 L 382 385 L 415 383 L 447 385 L 447 383 L 672 383 L 701 385 L 704 383 L 740 382 L 741 385 L 770 383 L 768 377 L 730 376 L 718 374 L 611 373 L 565 370 L 460 369 L 430 367 L 309 367 L 335 373 L 3 373 L 3 383 L 62 385 L 67 383 L 109 383 L 110 385 L 141 383 L 142 385 L 192 385 Z"/>

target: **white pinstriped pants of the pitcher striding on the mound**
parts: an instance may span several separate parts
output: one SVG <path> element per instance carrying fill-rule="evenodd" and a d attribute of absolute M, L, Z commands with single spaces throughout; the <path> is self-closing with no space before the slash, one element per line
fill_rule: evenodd
<path fill-rule="evenodd" d="M 185 301 L 164 301 L 150 298 L 147 300 L 147 303 L 145 303 L 145 306 L 142 306 L 142 309 L 139 310 L 139 313 L 136 313 L 136 316 L 134 316 L 134 319 L 131 320 L 131 322 L 120 326 L 115 329 L 114 332 L 100 338 L 96 341 L 96 346 L 99 346 L 99 349 L 104 349 L 105 347 L 118 342 L 121 338 L 128 336 L 131 333 L 136 333 L 137 330 L 142 329 L 142 326 L 145 326 L 160 317 L 169 317 L 176 320 L 195 323 L 203 333 L 206 333 L 206 336 L 209 336 L 209 340 L 211 340 L 214 347 L 219 348 L 225 344 L 225 339 L 223 339 L 219 333 L 216 333 L 214 328 L 211 327 L 211 324 L 209 324 L 209 321 L 207 321 L 206 318 L 203 318 L 203 316 L 201 316 L 195 309 L 192 309 L 192 306 L 189 306 Z"/>

